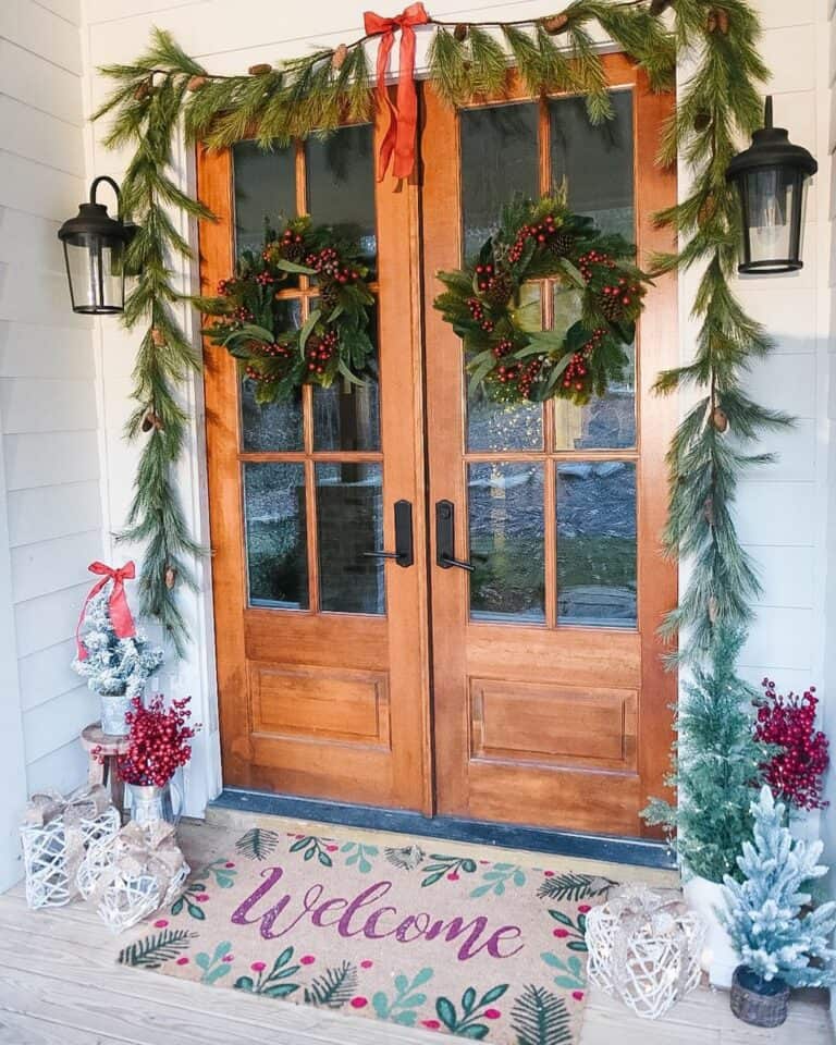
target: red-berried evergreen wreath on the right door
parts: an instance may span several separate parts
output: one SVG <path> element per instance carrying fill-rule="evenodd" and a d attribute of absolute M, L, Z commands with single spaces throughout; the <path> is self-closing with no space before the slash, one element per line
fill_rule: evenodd
<path fill-rule="evenodd" d="M 438 274 L 447 290 L 434 305 L 464 339 L 469 394 L 481 388 L 500 403 L 578 404 L 603 395 L 623 376 L 642 309 L 648 278 L 634 255 L 622 236 L 571 213 L 563 192 L 504 207 L 478 257 Z M 521 302 L 526 283 L 554 278 L 580 298 L 580 318 L 565 333 L 537 329 L 540 302 Z"/>

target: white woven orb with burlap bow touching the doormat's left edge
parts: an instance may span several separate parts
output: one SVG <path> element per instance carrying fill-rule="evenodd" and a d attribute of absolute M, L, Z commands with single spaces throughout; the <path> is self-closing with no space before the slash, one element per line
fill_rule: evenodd
<path fill-rule="evenodd" d="M 125 859 L 122 839 L 116 835 L 90 846 L 78 869 L 78 888 L 86 900 L 96 905 L 108 929 L 121 933 L 173 903 L 188 873 L 189 866 L 181 857 L 180 866 L 170 877 L 161 874 L 159 868 L 153 868 L 150 849 L 145 864 L 135 857 Z"/>

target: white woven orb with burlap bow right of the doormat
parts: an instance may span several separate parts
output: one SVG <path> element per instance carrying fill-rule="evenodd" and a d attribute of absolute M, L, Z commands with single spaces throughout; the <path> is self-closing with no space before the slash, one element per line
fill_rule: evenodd
<path fill-rule="evenodd" d="M 655 1020 L 700 982 L 704 935 L 681 900 L 628 887 L 587 915 L 589 979 Z"/>

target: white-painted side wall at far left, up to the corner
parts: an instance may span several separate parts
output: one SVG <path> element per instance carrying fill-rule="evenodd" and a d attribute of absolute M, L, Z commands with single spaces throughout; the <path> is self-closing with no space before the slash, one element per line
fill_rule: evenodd
<path fill-rule="evenodd" d="M 96 702 L 69 669 L 102 553 L 93 324 L 61 221 L 85 197 L 81 0 L 0 3 L 0 890 L 27 792 L 85 778 Z"/>

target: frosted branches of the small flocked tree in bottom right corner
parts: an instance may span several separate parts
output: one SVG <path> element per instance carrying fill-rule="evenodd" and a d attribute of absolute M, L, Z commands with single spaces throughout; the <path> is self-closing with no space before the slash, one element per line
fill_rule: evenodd
<path fill-rule="evenodd" d="M 745 843 L 737 864 L 743 882 L 725 878 L 727 911 L 721 918 L 741 963 L 764 980 L 783 979 L 790 987 L 822 987 L 836 981 L 836 951 L 829 941 L 836 929 L 836 903 L 822 903 L 800 918 L 810 902 L 801 887 L 827 873 L 817 863 L 822 843 L 795 840 L 786 826 L 786 809 L 769 787 L 752 802 L 754 843 Z"/>

